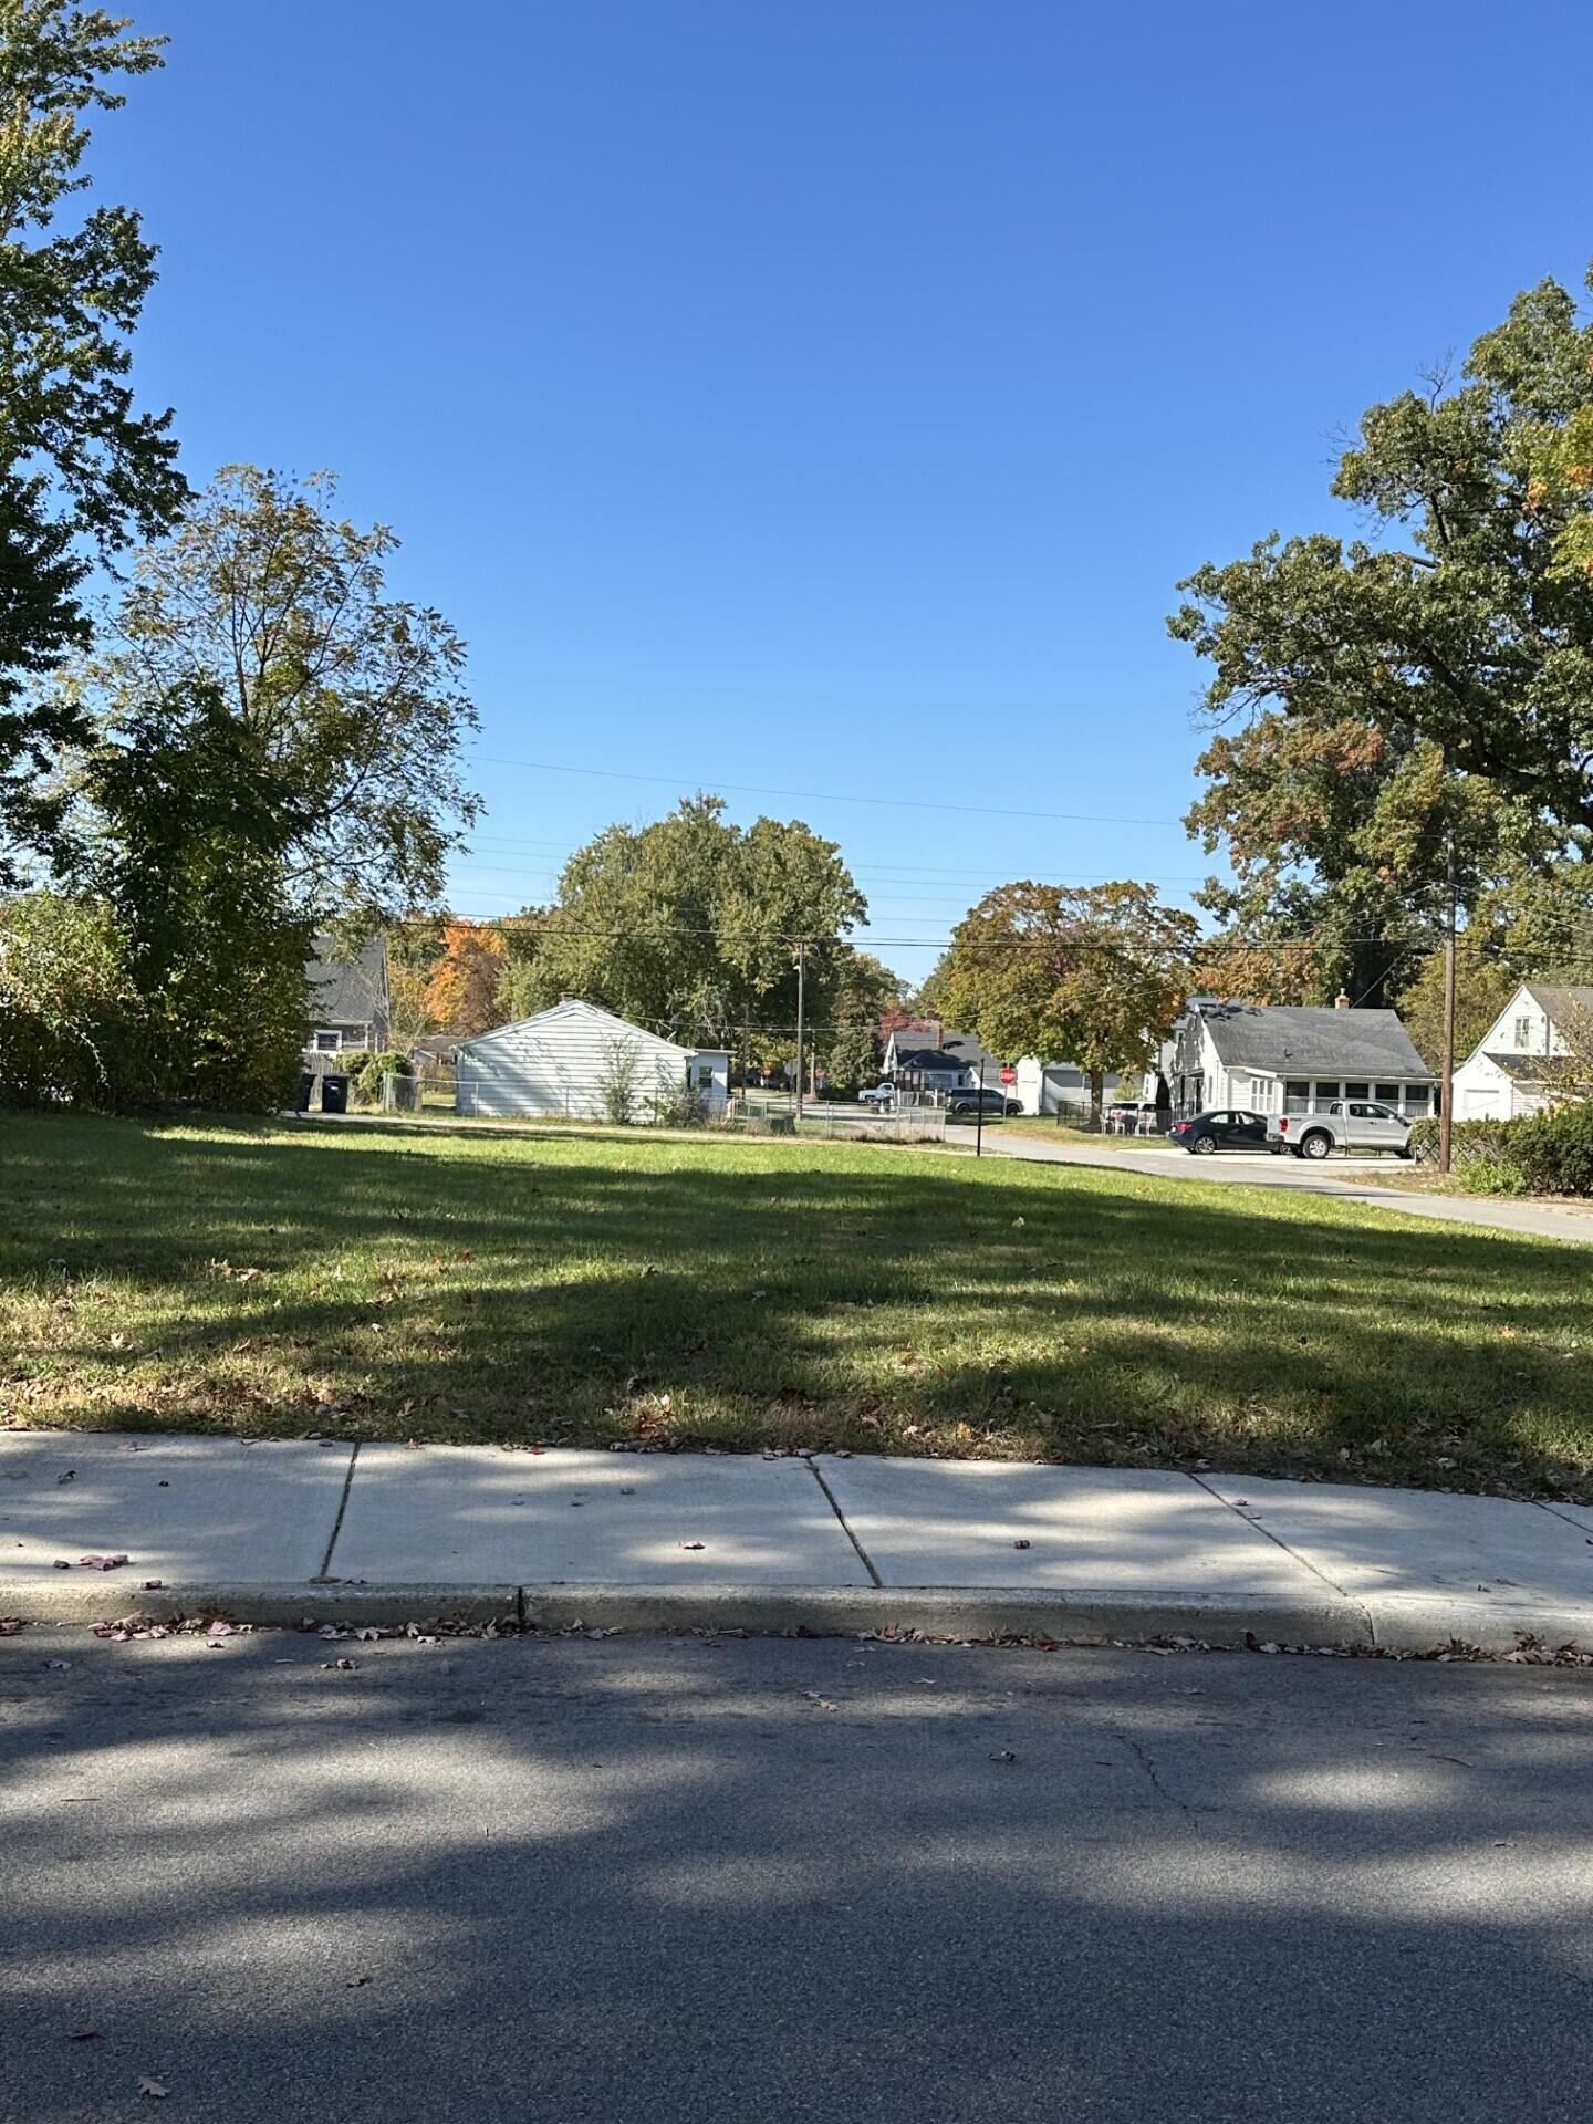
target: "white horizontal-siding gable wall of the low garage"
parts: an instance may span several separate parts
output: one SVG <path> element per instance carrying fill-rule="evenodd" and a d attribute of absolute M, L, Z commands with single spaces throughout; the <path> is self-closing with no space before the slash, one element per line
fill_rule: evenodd
<path fill-rule="evenodd" d="M 686 1085 L 684 1047 L 627 1026 L 586 1003 L 561 1003 L 537 1017 L 499 1026 L 459 1049 L 459 1111 L 482 1115 L 565 1113 L 607 1119 L 603 1096 L 618 1045 L 635 1054 L 635 1117 L 654 1092 Z M 714 1060 L 714 1058 L 703 1058 Z"/>

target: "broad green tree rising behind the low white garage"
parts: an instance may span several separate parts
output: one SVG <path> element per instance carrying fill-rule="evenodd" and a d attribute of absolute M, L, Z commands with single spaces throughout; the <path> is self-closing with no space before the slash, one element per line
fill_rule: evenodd
<path fill-rule="evenodd" d="M 582 996 L 765 1064 L 794 1054 L 799 945 L 805 1017 L 822 1026 L 847 966 L 843 932 L 864 911 L 833 841 L 773 818 L 733 826 L 720 796 L 697 794 L 569 858 L 516 998 Z"/>

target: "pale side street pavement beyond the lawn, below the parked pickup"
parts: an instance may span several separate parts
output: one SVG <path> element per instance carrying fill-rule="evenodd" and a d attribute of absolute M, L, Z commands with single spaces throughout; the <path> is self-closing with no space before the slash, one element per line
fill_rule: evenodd
<path fill-rule="evenodd" d="M 1429 1196 L 1385 1187 L 1376 1181 L 1368 1183 L 1368 1175 L 1389 1168 L 1391 1160 L 1387 1158 L 1334 1158 L 1325 1164 L 1272 1158 L 1270 1151 L 1219 1151 L 1215 1158 L 1192 1158 L 1189 1151 L 1151 1149 L 1141 1143 L 1045 1143 L 1043 1136 L 1009 1136 L 1000 1128 L 986 1130 L 986 1155 L 1028 1158 L 1051 1166 L 1104 1166 L 1109 1172 L 1153 1172 L 1158 1179 L 1175 1181 L 1296 1187 L 1306 1194 L 1338 1196 L 1344 1202 L 1370 1202 L 1372 1209 L 1404 1211 L 1412 1217 L 1438 1217 L 1444 1223 L 1480 1223 L 1495 1232 L 1531 1232 L 1538 1238 L 1593 1245 L 1593 1211 L 1561 1209 L 1551 1202 L 1497 1202 L 1487 1196 Z"/>

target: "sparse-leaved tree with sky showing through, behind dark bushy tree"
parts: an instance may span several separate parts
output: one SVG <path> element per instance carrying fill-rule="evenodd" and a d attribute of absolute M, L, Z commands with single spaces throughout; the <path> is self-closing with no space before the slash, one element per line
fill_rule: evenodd
<path fill-rule="evenodd" d="M 212 688 L 291 796 L 285 877 L 314 924 L 435 905 L 480 811 L 465 648 L 440 612 L 387 595 L 395 546 L 336 512 L 325 474 L 229 465 L 136 556 L 104 639 L 59 680 L 110 737 L 172 688 Z"/>

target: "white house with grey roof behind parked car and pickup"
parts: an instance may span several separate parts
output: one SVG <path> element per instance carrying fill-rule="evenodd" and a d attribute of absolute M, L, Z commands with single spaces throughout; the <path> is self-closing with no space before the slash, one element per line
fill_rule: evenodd
<path fill-rule="evenodd" d="M 1213 1107 L 1315 1113 L 1336 1098 L 1434 1111 L 1436 1075 L 1393 1011 L 1189 1003 L 1172 1032 L 1172 1115 Z"/>

